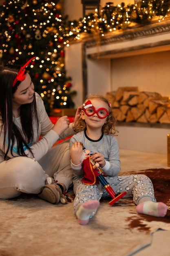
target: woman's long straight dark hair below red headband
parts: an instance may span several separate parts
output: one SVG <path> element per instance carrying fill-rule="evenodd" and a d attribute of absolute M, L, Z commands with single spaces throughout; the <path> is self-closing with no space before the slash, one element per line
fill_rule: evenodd
<path fill-rule="evenodd" d="M 13 94 L 18 88 L 20 81 L 13 86 L 13 80 L 20 70 L 20 66 L 16 65 L 2 65 L 0 66 L 0 116 L 1 125 L 4 130 L 4 141 L 3 141 L 3 151 L 4 160 L 7 159 L 7 154 L 11 150 L 11 155 L 13 155 L 13 145 L 16 141 L 17 143 L 17 153 L 20 156 L 26 156 L 24 152 L 24 147 L 32 153 L 29 143 L 33 142 L 33 120 L 39 124 L 37 106 L 35 101 L 35 94 L 32 103 L 23 104 L 20 107 L 20 118 L 22 125 L 22 132 L 13 122 Z M 2 129 L 0 131 L 0 136 L 2 134 Z M 7 149 L 5 149 L 5 144 L 7 144 Z M 33 154 L 33 153 L 32 153 Z"/>

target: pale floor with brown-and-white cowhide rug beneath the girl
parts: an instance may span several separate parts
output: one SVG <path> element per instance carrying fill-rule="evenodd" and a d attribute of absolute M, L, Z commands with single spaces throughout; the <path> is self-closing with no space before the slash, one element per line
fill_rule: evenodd
<path fill-rule="evenodd" d="M 146 165 L 153 168 L 145 168 L 140 173 L 151 178 L 156 198 L 167 203 L 166 217 L 137 214 L 131 199 L 121 199 L 111 207 L 109 198 L 103 198 L 95 217 L 82 226 L 73 215 L 72 202 L 53 205 L 36 195 L 23 194 L 15 199 L 0 200 L 0 256 L 169 256 L 166 241 L 170 239 L 170 170 L 156 168 L 165 164 L 152 164 L 158 158 L 150 153 L 120 152 L 121 175 L 144 170 L 141 164 L 137 171 L 134 162 L 138 163 L 141 155 L 147 158 Z M 124 163 L 132 164 L 132 159 L 126 161 L 129 154 L 133 155 L 133 167 L 127 172 Z M 135 158 L 135 154 L 140 157 Z M 156 160 L 151 159 L 151 155 Z M 165 155 L 162 157 L 166 159 Z"/>

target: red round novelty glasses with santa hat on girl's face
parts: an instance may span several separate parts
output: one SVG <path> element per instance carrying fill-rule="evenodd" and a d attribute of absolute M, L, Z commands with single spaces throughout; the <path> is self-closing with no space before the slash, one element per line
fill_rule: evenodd
<path fill-rule="evenodd" d="M 110 103 L 110 102 L 109 102 Z M 100 119 L 106 118 L 110 113 L 106 108 L 99 108 L 98 110 L 92 105 L 91 101 L 87 101 L 84 106 L 84 112 L 88 117 L 93 116 L 95 113 Z"/>

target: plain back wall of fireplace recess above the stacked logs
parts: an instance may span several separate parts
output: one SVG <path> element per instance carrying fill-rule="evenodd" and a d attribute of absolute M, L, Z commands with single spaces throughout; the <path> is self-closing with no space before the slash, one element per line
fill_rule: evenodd
<path fill-rule="evenodd" d="M 112 90 L 137 86 L 139 91 L 170 97 L 170 51 L 116 58 L 111 70 Z"/>

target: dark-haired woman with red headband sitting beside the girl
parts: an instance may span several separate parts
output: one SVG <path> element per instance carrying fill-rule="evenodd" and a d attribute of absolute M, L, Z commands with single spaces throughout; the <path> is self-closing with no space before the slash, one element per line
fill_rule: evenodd
<path fill-rule="evenodd" d="M 69 143 L 53 144 L 75 132 L 67 116 L 51 123 L 26 72 L 33 58 L 22 67 L 0 66 L 0 198 L 15 198 L 24 192 L 57 204 L 71 186 L 73 174 Z M 54 173 L 57 183 L 45 185 Z"/>

